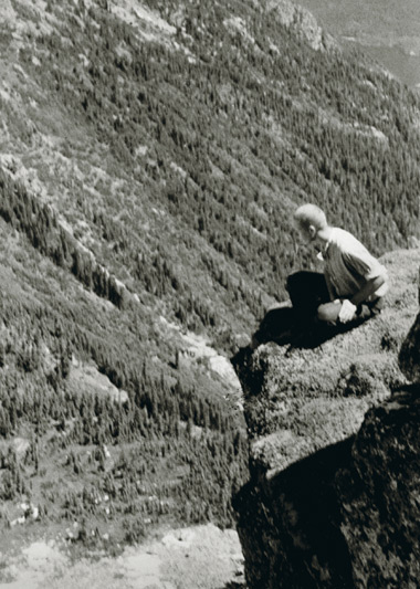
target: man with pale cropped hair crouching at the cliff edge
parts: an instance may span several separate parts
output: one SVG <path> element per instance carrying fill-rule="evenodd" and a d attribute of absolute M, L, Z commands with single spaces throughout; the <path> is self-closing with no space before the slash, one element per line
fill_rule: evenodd
<path fill-rule="evenodd" d="M 324 274 L 297 272 L 287 278 L 301 325 L 314 317 L 324 324 L 347 324 L 380 313 L 388 275 L 365 245 L 348 231 L 328 225 L 315 204 L 300 207 L 294 221 L 303 241 L 325 261 Z"/>

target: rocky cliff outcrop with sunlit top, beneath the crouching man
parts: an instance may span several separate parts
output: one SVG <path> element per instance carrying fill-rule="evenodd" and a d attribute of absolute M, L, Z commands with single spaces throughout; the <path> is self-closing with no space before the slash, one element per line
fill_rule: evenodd
<path fill-rule="evenodd" d="M 234 359 L 252 589 L 420 585 L 420 250 L 382 260 L 392 284 L 379 317 L 315 349 L 266 344 Z"/>

